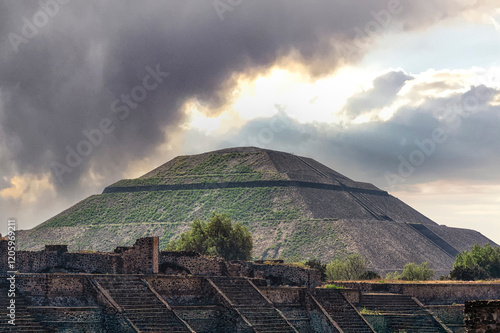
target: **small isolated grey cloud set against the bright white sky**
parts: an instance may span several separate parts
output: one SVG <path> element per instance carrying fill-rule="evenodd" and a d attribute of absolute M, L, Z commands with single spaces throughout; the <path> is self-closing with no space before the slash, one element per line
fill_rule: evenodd
<path fill-rule="evenodd" d="M 408 80 L 414 78 L 402 71 L 389 72 L 373 80 L 373 87 L 351 97 L 345 106 L 345 113 L 351 117 L 390 105 Z"/>

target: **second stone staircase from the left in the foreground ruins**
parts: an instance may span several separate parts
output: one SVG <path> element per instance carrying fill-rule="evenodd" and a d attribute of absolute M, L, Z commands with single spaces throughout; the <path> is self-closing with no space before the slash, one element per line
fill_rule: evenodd
<path fill-rule="evenodd" d="M 139 332 L 191 332 L 186 324 L 139 277 L 95 277 Z"/>

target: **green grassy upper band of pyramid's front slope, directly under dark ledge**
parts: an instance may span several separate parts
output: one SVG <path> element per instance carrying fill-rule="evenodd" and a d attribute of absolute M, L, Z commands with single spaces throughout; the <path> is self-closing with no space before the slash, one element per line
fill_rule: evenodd
<path fill-rule="evenodd" d="M 44 227 L 193 221 L 207 219 L 212 212 L 223 212 L 242 222 L 298 219 L 303 212 L 287 190 L 258 187 L 93 195 Z"/>

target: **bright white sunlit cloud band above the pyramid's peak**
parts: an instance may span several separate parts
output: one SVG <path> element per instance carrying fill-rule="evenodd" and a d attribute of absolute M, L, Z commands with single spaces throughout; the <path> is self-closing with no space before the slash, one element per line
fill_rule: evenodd
<path fill-rule="evenodd" d="M 410 74 L 402 69 L 369 72 L 346 66 L 317 80 L 292 69 L 297 67 L 275 68 L 253 79 L 242 76 L 232 102 L 217 116 L 209 116 L 206 107 L 196 101 L 186 103 L 188 119 L 183 128 L 223 134 L 248 121 L 274 116 L 276 105 L 286 106 L 286 114 L 299 123 L 387 121 L 399 109 L 462 94 L 474 85 L 500 89 L 498 67 Z"/>

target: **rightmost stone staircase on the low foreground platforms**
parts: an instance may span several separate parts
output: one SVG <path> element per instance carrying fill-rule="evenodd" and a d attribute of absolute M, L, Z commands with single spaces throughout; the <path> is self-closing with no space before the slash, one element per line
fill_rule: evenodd
<path fill-rule="evenodd" d="M 410 296 L 363 294 L 359 306 L 383 315 L 388 332 L 446 332 L 444 327 Z"/>

